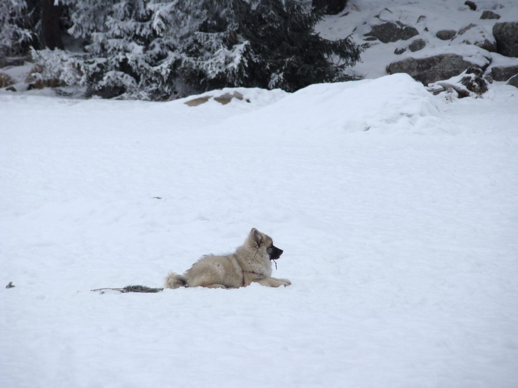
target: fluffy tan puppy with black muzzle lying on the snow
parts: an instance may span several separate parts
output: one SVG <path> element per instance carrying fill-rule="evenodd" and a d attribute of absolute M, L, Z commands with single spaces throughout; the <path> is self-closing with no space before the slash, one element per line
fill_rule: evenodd
<path fill-rule="evenodd" d="M 270 236 L 252 228 L 247 240 L 234 253 L 204 256 L 183 275 L 170 272 L 165 278 L 165 288 L 240 288 L 252 282 L 287 287 L 291 285 L 290 280 L 271 277 L 271 260 L 279 259 L 282 252 Z"/>

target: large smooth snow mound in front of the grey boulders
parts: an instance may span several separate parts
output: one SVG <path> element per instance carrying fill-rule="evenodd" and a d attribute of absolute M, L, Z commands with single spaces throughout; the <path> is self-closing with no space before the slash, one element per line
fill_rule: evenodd
<path fill-rule="evenodd" d="M 443 129 L 434 97 L 408 74 L 315 84 L 262 109 L 229 118 L 226 127 L 330 132 Z"/>

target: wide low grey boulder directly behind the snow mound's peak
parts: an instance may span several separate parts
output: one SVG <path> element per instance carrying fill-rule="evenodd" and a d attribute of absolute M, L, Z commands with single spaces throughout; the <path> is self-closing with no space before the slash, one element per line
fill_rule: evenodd
<path fill-rule="evenodd" d="M 461 55 L 439 54 L 428 58 L 406 58 L 387 66 L 387 73 L 407 73 L 425 86 L 461 74 L 468 67 L 479 67 L 465 61 Z"/>

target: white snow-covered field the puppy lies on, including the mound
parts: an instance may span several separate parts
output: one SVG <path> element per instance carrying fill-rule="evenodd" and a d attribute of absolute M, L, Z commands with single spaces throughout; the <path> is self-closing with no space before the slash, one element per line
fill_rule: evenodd
<path fill-rule="evenodd" d="M 515 387 L 517 89 L 239 91 L 0 94 L 0 385 Z M 90 291 L 252 227 L 292 286 Z"/>

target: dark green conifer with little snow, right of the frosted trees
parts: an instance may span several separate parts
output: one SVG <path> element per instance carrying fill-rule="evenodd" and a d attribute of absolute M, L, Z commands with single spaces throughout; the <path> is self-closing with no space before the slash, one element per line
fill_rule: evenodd
<path fill-rule="evenodd" d="M 266 0 L 241 9 L 239 35 L 250 42 L 247 85 L 292 92 L 312 83 L 352 79 L 343 70 L 359 61 L 364 48 L 348 38 L 330 41 L 315 34 L 322 13 L 304 12 L 300 2 L 291 0 Z"/>

